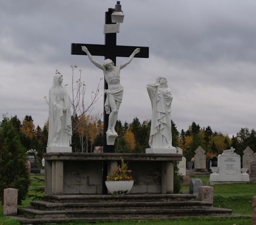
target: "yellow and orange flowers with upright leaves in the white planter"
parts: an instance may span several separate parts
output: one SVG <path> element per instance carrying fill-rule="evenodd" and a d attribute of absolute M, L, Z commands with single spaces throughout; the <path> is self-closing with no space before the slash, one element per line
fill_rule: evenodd
<path fill-rule="evenodd" d="M 106 177 L 107 181 L 124 181 L 124 180 L 133 180 L 131 176 L 128 176 L 127 173 L 131 173 L 131 170 L 128 170 L 128 162 L 125 163 L 124 160 L 121 160 L 121 167 L 120 165 L 117 168 L 113 168 L 111 166 L 112 175 L 108 174 Z"/>

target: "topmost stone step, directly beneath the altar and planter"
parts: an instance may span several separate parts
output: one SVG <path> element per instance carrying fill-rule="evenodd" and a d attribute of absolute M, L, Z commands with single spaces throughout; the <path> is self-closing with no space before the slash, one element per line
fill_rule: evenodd
<path fill-rule="evenodd" d="M 45 200 L 56 203 L 90 203 L 90 202 L 173 202 L 191 201 L 195 199 L 192 194 L 127 194 L 127 195 L 104 195 L 104 194 L 65 194 L 45 195 Z"/>

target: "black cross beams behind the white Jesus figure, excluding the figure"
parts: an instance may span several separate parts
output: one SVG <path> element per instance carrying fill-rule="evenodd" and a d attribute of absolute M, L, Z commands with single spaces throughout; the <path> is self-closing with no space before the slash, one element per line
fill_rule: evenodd
<path fill-rule="evenodd" d="M 114 9 L 108 9 L 105 12 L 105 24 L 115 24 L 111 22 L 111 14 Z M 139 58 L 148 58 L 148 47 L 136 47 L 136 46 L 117 46 L 116 45 L 116 33 L 106 33 L 105 34 L 105 45 L 94 45 L 94 44 L 71 44 L 71 54 L 75 55 L 88 55 L 85 51 L 82 50 L 82 46 L 86 46 L 89 54 L 96 55 L 96 56 L 104 56 L 105 60 L 110 59 L 112 60 L 113 64 L 116 65 L 116 57 L 129 57 L 134 52 L 135 49 L 140 48 L 140 51 L 134 55 L 134 57 Z M 96 65 L 97 66 L 97 65 Z M 104 89 L 108 89 L 108 83 L 106 79 L 104 79 Z M 106 94 L 104 94 L 104 103 L 106 101 Z M 106 113 L 104 107 L 104 128 L 103 128 L 103 135 L 104 135 L 104 146 L 103 152 L 113 153 L 115 151 L 114 145 L 107 145 L 107 134 L 108 131 L 108 121 L 109 121 L 109 114 Z"/>

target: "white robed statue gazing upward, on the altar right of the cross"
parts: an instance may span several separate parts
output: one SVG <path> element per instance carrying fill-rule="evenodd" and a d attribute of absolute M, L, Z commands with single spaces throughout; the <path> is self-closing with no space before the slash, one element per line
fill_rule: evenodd
<path fill-rule="evenodd" d="M 172 146 L 171 103 L 172 93 L 165 77 L 159 76 L 155 83 L 147 85 L 151 100 L 152 117 L 149 146 L 146 153 L 177 153 Z"/>

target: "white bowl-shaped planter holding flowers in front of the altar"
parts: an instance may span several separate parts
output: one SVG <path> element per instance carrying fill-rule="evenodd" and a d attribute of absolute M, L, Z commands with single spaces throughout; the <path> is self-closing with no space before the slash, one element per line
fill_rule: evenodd
<path fill-rule="evenodd" d="M 108 191 L 111 194 L 128 194 L 133 186 L 133 180 L 105 181 Z"/>

